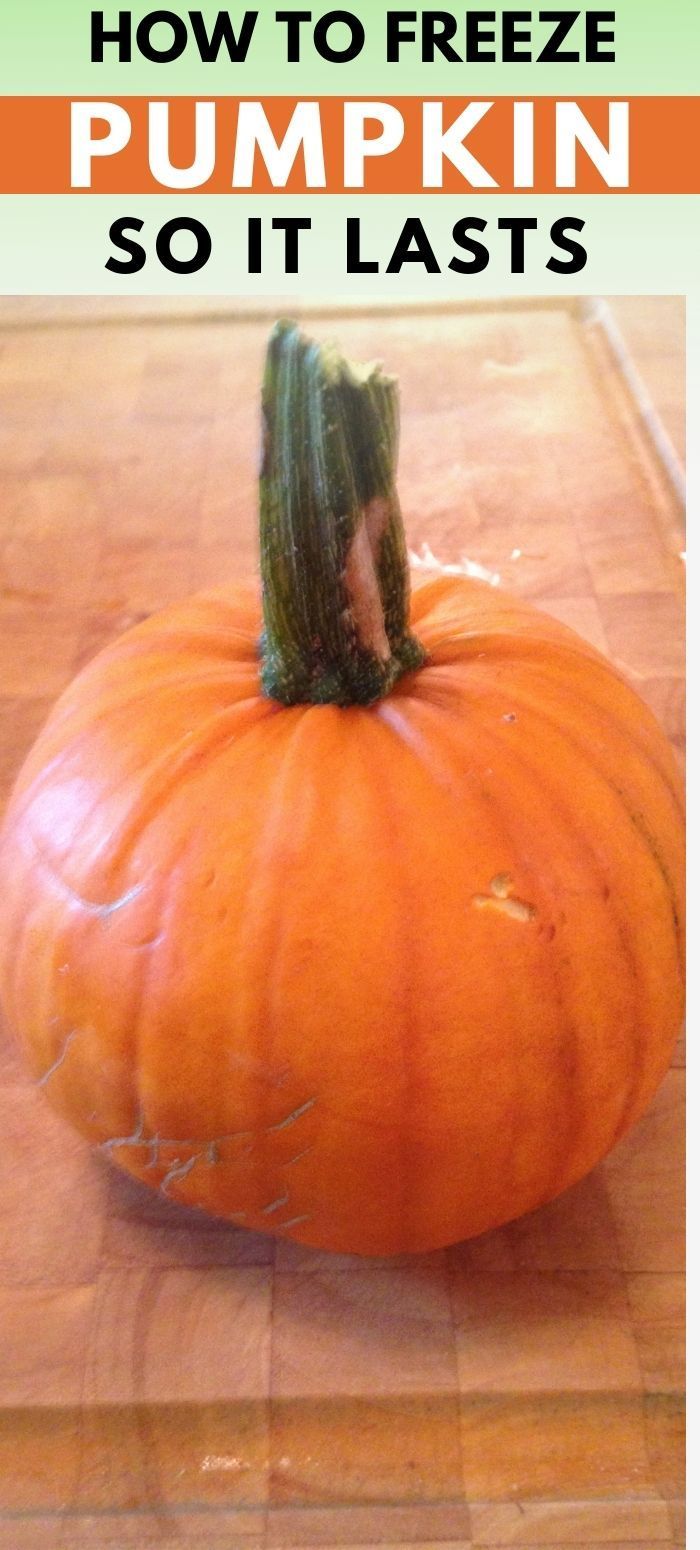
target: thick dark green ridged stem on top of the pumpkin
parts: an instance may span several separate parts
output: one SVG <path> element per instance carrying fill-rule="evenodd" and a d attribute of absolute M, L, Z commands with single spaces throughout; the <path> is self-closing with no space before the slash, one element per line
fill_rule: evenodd
<path fill-rule="evenodd" d="M 424 653 L 409 631 L 398 384 L 279 322 L 263 381 L 265 694 L 369 705 Z"/>

